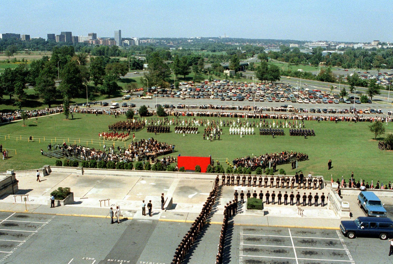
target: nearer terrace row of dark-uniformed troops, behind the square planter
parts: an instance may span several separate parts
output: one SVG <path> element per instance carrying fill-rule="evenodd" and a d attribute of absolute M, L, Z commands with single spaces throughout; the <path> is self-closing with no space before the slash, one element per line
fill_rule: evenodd
<path fill-rule="evenodd" d="M 235 198 L 235 201 L 237 202 L 237 197 L 239 196 L 239 193 L 237 192 L 237 190 L 235 190 L 235 193 L 233 194 L 233 197 Z M 288 193 L 285 192 L 285 194 L 283 195 L 281 193 L 281 191 L 278 192 L 278 194 L 276 195 L 275 192 L 273 191 L 272 194 L 269 193 L 268 190 L 266 190 L 265 195 L 263 195 L 262 190 L 257 193 L 256 190 L 254 190 L 252 197 L 257 199 L 257 197 L 259 196 L 259 199 L 263 200 L 263 196 L 265 196 L 265 203 L 266 204 L 270 204 L 270 198 L 272 198 L 272 205 L 275 204 L 275 198 L 277 196 L 277 204 L 281 205 L 282 201 L 281 199 L 284 198 L 284 205 L 296 205 L 296 206 L 306 206 L 306 204 L 308 206 L 311 206 L 312 204 L 314 204 L 315 206 L 318 206 L 318 199 L 320 198 L 318 195 L 318 192 L 314 195 L 314 197 L 312 196 L 311 192 L 309 193 L 309 195 L 307 195 L 306 193 L 303 193 L 303 196 L 301 196 L 300 192 L 298 192 L 295 196 L 294 192 L 291 192 L 289 195 L 289 203 L 288 203 Z M 251 193 L 250 191 L 247 192 L 246 194 L 247 199 L 251 198 Z M 296 198 L 296 201 L 294 201 L 294 198 Z M 301 203 L 300 198 L 303 199 L 303 203 Z M 312 203 L 312 198 L 314 198 L 314 203 Z M 321 195 L 321 205 L 325 206 L 325 193 L 323 192 Z M 308 199 L 308 203 L 307 203 L 307 199 Z M 241 191 L 240 193 L 240 202 L 244 203 L 244 192 Z M 263 202 L 263 201 L 262 201 Z"/>

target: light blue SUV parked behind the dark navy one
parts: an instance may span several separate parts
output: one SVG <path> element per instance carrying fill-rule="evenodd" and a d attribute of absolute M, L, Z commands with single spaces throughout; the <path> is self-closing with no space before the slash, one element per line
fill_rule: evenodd
<path fill-rule="evenodd" d="M 367 216 L 386 217 L 386 210 L 381 200 L 373 192 L 364 191 L 358 195 L 359 207 L 363 208 Z"/>

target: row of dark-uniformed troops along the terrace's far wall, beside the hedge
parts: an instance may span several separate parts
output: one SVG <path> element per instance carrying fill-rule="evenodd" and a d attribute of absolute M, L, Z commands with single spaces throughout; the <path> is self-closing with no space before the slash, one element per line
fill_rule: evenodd
<path fill-rule="evenodd" d="M 225 176 L 225 174 L 222 174 L 221 176 L 221 185 L 224 186 L 235 186 L 235 175 L 232 174 L 232 176 L 230 176 L 229 174 L 227 176 Z M 226 179 L 226 184 L 225 184 L 225 179 Z M 261 188 L 263 181 L 264 181 L 264 188 L 267 188 L 268 186 L 270 186 L 270 188 L 295 188 L 295 185 L 297 185 L 297 188 L 300 189 L 301 188 L 301 184 L 303 184 L 303 189 L 307 188 L 308 189 L 319 189 L 321 190 L 323 187 L 323 180 L 322 178 L 317 179 L 316 177 L 312 178 L 312 177 L 304 177 L 303 173 L 300 174 L 300 177 L 298 174 L 296 174 L 295 176 L 292 176 L 292 178 L 290 177 L 285 177 L 285 176 L 277 176 L 277 177 L 270 177 L 270 185 L 268 185 L 269 182 L 269 178 L 266 175 L 264 178 L 262 178 L 262 175 L 259 175 L 259 178 L 257 177 L 257 175 L 254 175 L 254 177 L 251 177 L 251 175 L 248 175 L 248 177 L 246 177 L 246 175 L 243 175 L 242 177 L 240 177 L 240 175 L 238 174 L 236 176 L 236 186 L 240 186 L 240 179 L 242 179 L 242 186 L 246 186 L 246 179 L 248 180 L 248 187 L 257 187 L 257 181 L 259 182 L 258 187 Z M 275 181 L 275 184 L 274 184 Z M 281 183 L 281 185 L 280 185 Z M 319 184 L 319 185 L 318 185 Z M 313 185 L 313 186 L 312 186 Z M 290 186 L 290 187 L 289 187 Z"/>

